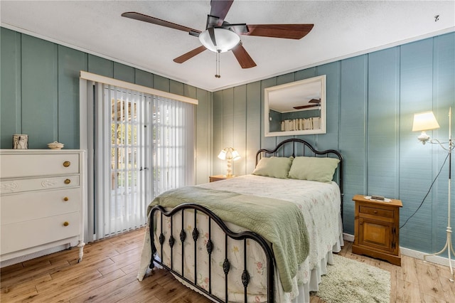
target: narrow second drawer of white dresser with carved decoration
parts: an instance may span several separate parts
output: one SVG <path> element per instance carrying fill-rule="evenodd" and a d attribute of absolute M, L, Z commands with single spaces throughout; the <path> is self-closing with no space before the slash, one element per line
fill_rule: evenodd
<path fill-rule="evenodd" d="M 79 186 L 79 176 L 58 176 L 50 178 L 15 179 L 0 182 L 0 193 L 19 193 L 53 188 Z"/>

